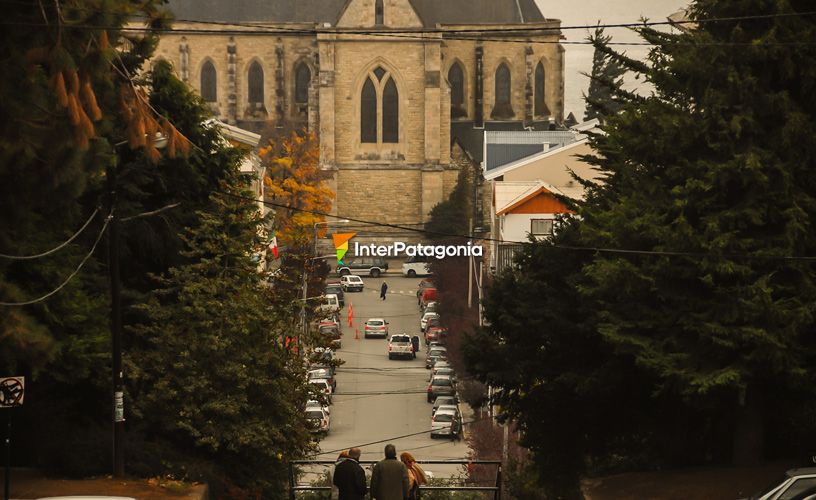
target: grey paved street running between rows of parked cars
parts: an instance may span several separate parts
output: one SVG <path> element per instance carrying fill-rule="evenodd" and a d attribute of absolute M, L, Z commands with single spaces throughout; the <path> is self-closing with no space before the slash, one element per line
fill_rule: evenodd
<path fill-rule="evenodd" d="M 383 278 L 363 278 L 362 293 L 346 293 L 342 311 L 343 348 L 338 351 L 346 364 L 337 372 L 337 394 L 332 406 L 331 432 L 320 442 L 320 459 L 334 459 L 339 450 L 359 446 L 363 460 L 379 460 L 383 447 L 392 442 L 397 453 L 410 451 L 418 460 L 462 459 L 468 451 L 464 441 L 453 443 L 431 439 L 431 405 L 426 400 L 429 371 L 425 369 L 425 346 L 415 360 L 389 360 L 387 341 L 363 338 L 368 318 L 382 317 L 390 323 L 390 333 L 418 334 L 419 307 L 416 289 L 419 278 L 385 277 L 388 298 L 379 298 Z M 348 326 L 348 307 L 353 304 L 354 324 L 360 339 Z M 463 410 L 465 408 L 463 407 Z M 464 419 L 469 419 L 465 412 Z M 400 437 L 410 434 L 407 437 Z M 384 442 L 377 442 L 383 441 Z M 377 442 L 367 446 L 366 443 Z M 456 466 L 429 466 L 437 477 L 460 471 Z"/>

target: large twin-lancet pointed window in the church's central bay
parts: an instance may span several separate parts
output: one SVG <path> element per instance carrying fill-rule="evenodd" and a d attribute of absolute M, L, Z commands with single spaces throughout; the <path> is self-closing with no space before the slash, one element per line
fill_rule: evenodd
<path fill-rule="evenodd" d="M 368 74 L 360 93 L 360 142 L 399 142 L 399 89 L 382 66 Z"/>

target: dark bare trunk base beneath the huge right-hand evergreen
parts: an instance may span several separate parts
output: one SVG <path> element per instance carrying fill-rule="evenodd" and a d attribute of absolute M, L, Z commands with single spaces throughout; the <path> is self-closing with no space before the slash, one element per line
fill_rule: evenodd
<path fill-rule="evenodd" d="M 740 395 L 734 419 L 732 460 L 734 465 L 756 465 L 762 461 L 765 444 L 762 392 L 755 386 Z"/>

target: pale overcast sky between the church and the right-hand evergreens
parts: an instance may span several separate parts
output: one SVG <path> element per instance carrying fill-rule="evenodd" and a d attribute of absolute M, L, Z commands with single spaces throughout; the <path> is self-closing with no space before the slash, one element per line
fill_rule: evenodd
<path fill-rule="evenodd" d="M 683 0 L 536 0 L 544 17 L 561 20 L 561 26 L 619 24 L 637 22 L 641 17 L 652 21 L 665 21 L 670 14 L 686 7 L 689 2 Z M 613 42 L 641 41 L 628 29 L 607 29 Z M 588 30 L 565 30 L 568 41 L 585 40 Z M 584 116 L 582 92 L 589 87 L 589 79 L 581 72 L 592 71 L 591 45 L 564 45 L 566 63 L 564 75 L 564 116 L 573 112 L 578 121 Z M 646 56 L 646 47 L 620 47 L 631 57 L 642 59 Z M 628 82 L 627 87 L 637 87 L 638 82 Z M 641 84 L 642 86 L 642 84 Z"/>

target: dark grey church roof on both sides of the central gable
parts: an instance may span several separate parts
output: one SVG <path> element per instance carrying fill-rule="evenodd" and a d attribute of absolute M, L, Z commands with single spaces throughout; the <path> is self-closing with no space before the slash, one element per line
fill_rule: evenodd
<path fill-rule="evenodd" d="M 350 0 L 170 0 L 180 21 L 337 24 Z M 545 21 L 535 0 L 409 0 L 426 28 L 437 24 Z"/>

